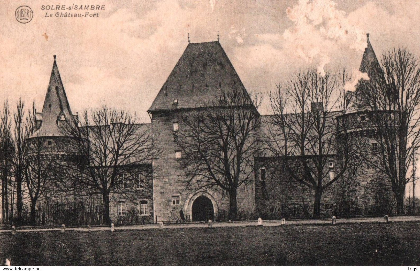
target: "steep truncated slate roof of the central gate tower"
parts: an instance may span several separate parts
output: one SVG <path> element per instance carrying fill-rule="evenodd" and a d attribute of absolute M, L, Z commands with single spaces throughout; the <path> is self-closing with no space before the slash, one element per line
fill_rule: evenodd
<path fill-rule="evenodd" d="M 190 43 L 149 111 L 204 107 L 234 88 L 246 91 L 220 43 Z"/>

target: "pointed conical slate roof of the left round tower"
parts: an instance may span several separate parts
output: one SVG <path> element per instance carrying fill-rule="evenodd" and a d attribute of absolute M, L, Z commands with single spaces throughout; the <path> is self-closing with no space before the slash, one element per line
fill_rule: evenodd
<path fill-rule="evenodd" d="M 55 57 L 50 83 L 45 95 L 44 107 L 42 107 L 41 116 L 38 116 L 42 121 L 41 126 L 32 136 L 63 136 L 63 133 L 58 128 L 59 122 L 74 121 Z"/>

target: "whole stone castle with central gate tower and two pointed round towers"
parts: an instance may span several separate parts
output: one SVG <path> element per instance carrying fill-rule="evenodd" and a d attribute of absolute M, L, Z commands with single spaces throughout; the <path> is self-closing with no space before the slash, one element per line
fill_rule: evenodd
<path fill-rule="evenodd" d="M 378 67 L 378 65 L 368 39 L 360 71 L 369 73 L 368 67 Z M 184 171 L 178 161 L 183 154 L 176 139 L 178 130 L 183 129 L 181 121 L 183 114 L 206 107 L 209 102 L 220 99 L 223 91 L 232 88 L 247 93 L 220 43 L 218 41 L 189 43 L 147 111 L 151 123 L 145 124 L 144 127 L 150 130 L 157 148 L 161 151 L 160 156 L 148 166 L 152 171 L 150 189 L 137 191 L 134 200 L 124 198 L 118 193 L 110 195 L 113 197 L 110 201 L 110 216 L 113 221 L 123 216 L 128 208 L 137 208 L 141 216 L 155 222 L 178 219 L 181 210 L 186 219 L 192 221 L 221 219 L 221 214 L 228 210 L 228 193 L 214 188 L 199 190 L 186 188 L 182 181 Z M 347 102 L 351 104 L 349 108 L 352 109 L 344 116 L 345 118 L 360 119 L 361 115 L 364 117 L 365 113 L 357 109 L 356 97 L 357 91 L 354 95 L 347 94 Z M 54 56 L 44 106 L 41 113 L 35 114 L 37 130 L 29 140 L 41 138 L 45 148 L 54 148 L 62 153 L 71 152 L 71 149 L 66 147 L 66 142 L 73 139 L 63 135 L 60 127 L 63 122 L 69 120 L 77 123 L 78 117 L 71 112 Z M 263 123 L 266 123 L 268 117 L 260 116 Z M 260 133 L 265 133 L 265 130 L 261 129 Z M 299 184 L 290 185 L 284 169 L 277 171 L 276 175 L 272 174 L 268 169 L 268 164 L 272 160 L 273 157 L 255 157 L 251 169 L 254 171 L 252 180 L 237 191 L 238 211 L 244 214 L 244 217 L 245 214 L 249 214 L 249 218 L 251 214 L 269 217 L 270 210 L 275 209 L 280 211 L 287 209 L 289 216 L 307 215 L 307 210 L 310 210 L 307 206 L 313 201 L 312 192 Z M 285 185 L 280 187 L 273 185 L 274 181 L 278 184 L 279 180 L 284 180 Z M 363 180 L 361 186 L 367 184 L 366 180 Z M 321 205 L 323 214 L 331 214 L 338 208 L 336 193 L 339 193 L 337 192 L 339 188 L 340 184 L 337 183 L 323 195 Z M 356 190 L 357 192 L 352 195 L 355 205 L 362 206 L 362 203 L 357 201 L 361 201 L 363 196 L 372 198 L 363 188 Z M 359 210 L 363 213 L 362 207 Z"/>

